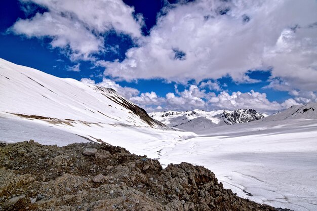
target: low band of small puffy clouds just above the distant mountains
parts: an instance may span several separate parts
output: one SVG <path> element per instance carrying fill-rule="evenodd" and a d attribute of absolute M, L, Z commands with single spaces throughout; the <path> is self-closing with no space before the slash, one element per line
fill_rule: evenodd
<path fill-rule="evenodd" d="M 180 92 L 175 86 L 175 93 L 167 93 L 166 96 L 160 97 L 155 92 L 140 93 L 137 89 L 131 87 L 122 87 L 115 81 L 103 78 L 100 83 L 95 83 L 90 78 L 82 78 L 82 82 L 98 85 L 101 87 L 112 88 L 119 94 L 126 97 L 128 100 L 145 108 L 148 112 L 162 111 L 162 110 L 193 110 L 196 108 L 205 110 L 235 110 L 252 108 L 258 112 L 267 114 L 276 111 L 284 110 L 292 105 L 301 105 L 307 103 L 305 99 L 298 99 L 298 97 L 289 98 L 282 103 L 276 101 L 269 101 L 265 93 L 259 93 L 251 90 L 250 92 L 233 92 L 231 95 L 222 91 L 216 95 L 213 92 L 206 93 L 206 91 L 196 85 L 190 85 L 187 89 Z M 295 93 L 295 92 L 294 92 Z M 307 97 L 314 97 L 313 93 L 306 93 Z M 309 101 L 310 102 L 310 101 Z"/>

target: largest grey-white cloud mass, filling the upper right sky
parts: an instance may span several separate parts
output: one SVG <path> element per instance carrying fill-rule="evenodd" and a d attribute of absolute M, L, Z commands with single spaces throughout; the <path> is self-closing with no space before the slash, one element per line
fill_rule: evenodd
<path fill-rule="evenodd" d="M 165 8 L 140 47 L 123 62 L 106 62 L 105 74 L 125 80 L 184 82 L 270 69 L 292 89 L 316 90 L 317 2 L 314 0 L 197 0 Z M 177 59 L 182 52 L 182 59 Z"/>

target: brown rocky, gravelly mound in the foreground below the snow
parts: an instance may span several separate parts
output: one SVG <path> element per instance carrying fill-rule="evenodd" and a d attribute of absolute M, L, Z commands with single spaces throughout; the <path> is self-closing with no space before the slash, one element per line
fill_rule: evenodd
<path fill-rule="evenodd" d="M 0 143 L 0 210 L 275 209 L 237 197 L 215 175 L 169 165 L 121 147 L 81 143 Z"/>

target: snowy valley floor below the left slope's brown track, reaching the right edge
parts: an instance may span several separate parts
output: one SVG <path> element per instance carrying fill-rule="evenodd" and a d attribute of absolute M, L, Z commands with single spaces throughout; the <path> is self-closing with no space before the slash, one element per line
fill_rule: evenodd
<path fill-rule="evenodd" d="M 0 116 L 0 141 L 34 139 L 64 146 L 87 142 L 74 134 L 91 135 L 132 153 L 157 158 L 163 166 L 183 161 L 203 165 L 225 188 L 243 198 L 295 211 L 317 210 L 317 120 L 221 126 L 195 136 L 139 127 L 58 125 L 4 113 Z"/>

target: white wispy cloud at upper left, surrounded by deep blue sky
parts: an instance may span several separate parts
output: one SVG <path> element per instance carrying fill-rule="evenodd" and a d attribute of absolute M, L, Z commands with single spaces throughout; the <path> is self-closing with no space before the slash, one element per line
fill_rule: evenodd
<path fill-rule="evenodd" d="M 95 60 L 92 54 L 106 51 L 103 34 L 110 30 L 140 37 L 142 16 L 122 0 L 21 0 L 47 9 L 29 19 L 19 19 L 10 30 L 27 37 L 50 37 L 71 60 Z M 27 8 L 27 7 L 25 7 Z"/>

